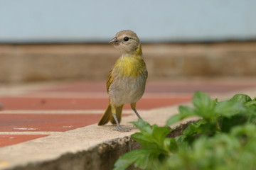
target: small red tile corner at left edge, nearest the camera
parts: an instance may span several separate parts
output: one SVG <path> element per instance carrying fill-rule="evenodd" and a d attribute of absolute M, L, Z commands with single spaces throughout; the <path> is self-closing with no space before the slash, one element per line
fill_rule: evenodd
<path fill-rule="evenodd" d="M 46 137 L 48 135 L 0 135 L 0 147 L 26 142 L 28 140 L 35 140 L 39 137 Z"/>

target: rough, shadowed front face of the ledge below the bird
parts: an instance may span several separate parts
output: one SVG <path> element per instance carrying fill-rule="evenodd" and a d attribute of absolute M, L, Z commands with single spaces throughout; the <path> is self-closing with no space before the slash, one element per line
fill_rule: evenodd
<path fill-rule="evenodd" d="M 114 162 L 124 153 L 139 148 L 130 137 L 103 142 L 91 149 L 67 153 L 46 162 L 17 166 L 14 170 L 85 170 L 112 169 Z"/>

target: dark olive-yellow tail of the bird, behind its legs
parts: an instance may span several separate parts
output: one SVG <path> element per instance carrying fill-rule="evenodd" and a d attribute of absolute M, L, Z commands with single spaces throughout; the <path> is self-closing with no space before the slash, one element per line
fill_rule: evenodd
<path fill-rule="evenodd" d="M 123 108 L 123 105 L 116 108 L 116 114 L 117 114 L 118 123 L 121 122 L 122 108 Z M 109 121 L 112 124 L 116 124 L 116 122 L 114 120 L 114 117 L 112 116 L 112 109 L 111 109 L 110 104 L 107 106 L 107 109 L 106 109 L 105 113 L 102 115 L 102 118 L 100 118 L 100 121 L 99 121 L 98 125 L 105 125 Z"/>

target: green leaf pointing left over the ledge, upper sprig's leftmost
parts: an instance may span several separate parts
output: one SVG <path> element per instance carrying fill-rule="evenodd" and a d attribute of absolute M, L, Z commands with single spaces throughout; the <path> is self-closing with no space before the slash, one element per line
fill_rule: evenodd
<path fill-rule="evenodd" d="M 178 121 L 181 121 L 184 118 L 188 118 L 190 116 L 195 115 L 193 108 L 190 108 L 188 106 L 179 106 L 178 110 L 180 112 L 179 114 L 173 115 L 171 116 L 171 118 L 169 118 L 169 120 L 167 120 L 167 126 L 173 125 L 174 123 L 177 123 Z"/>

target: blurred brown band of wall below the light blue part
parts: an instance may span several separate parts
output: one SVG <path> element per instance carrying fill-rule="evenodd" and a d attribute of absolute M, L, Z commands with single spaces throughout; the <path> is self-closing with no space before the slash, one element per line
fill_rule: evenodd
<path fill-rule="evenodd" d="M 149 79 L 255 77 L 256 42 L 143 44 Z M 0 82 L 106 79 L 111 45 L 0 45 Z"/>

